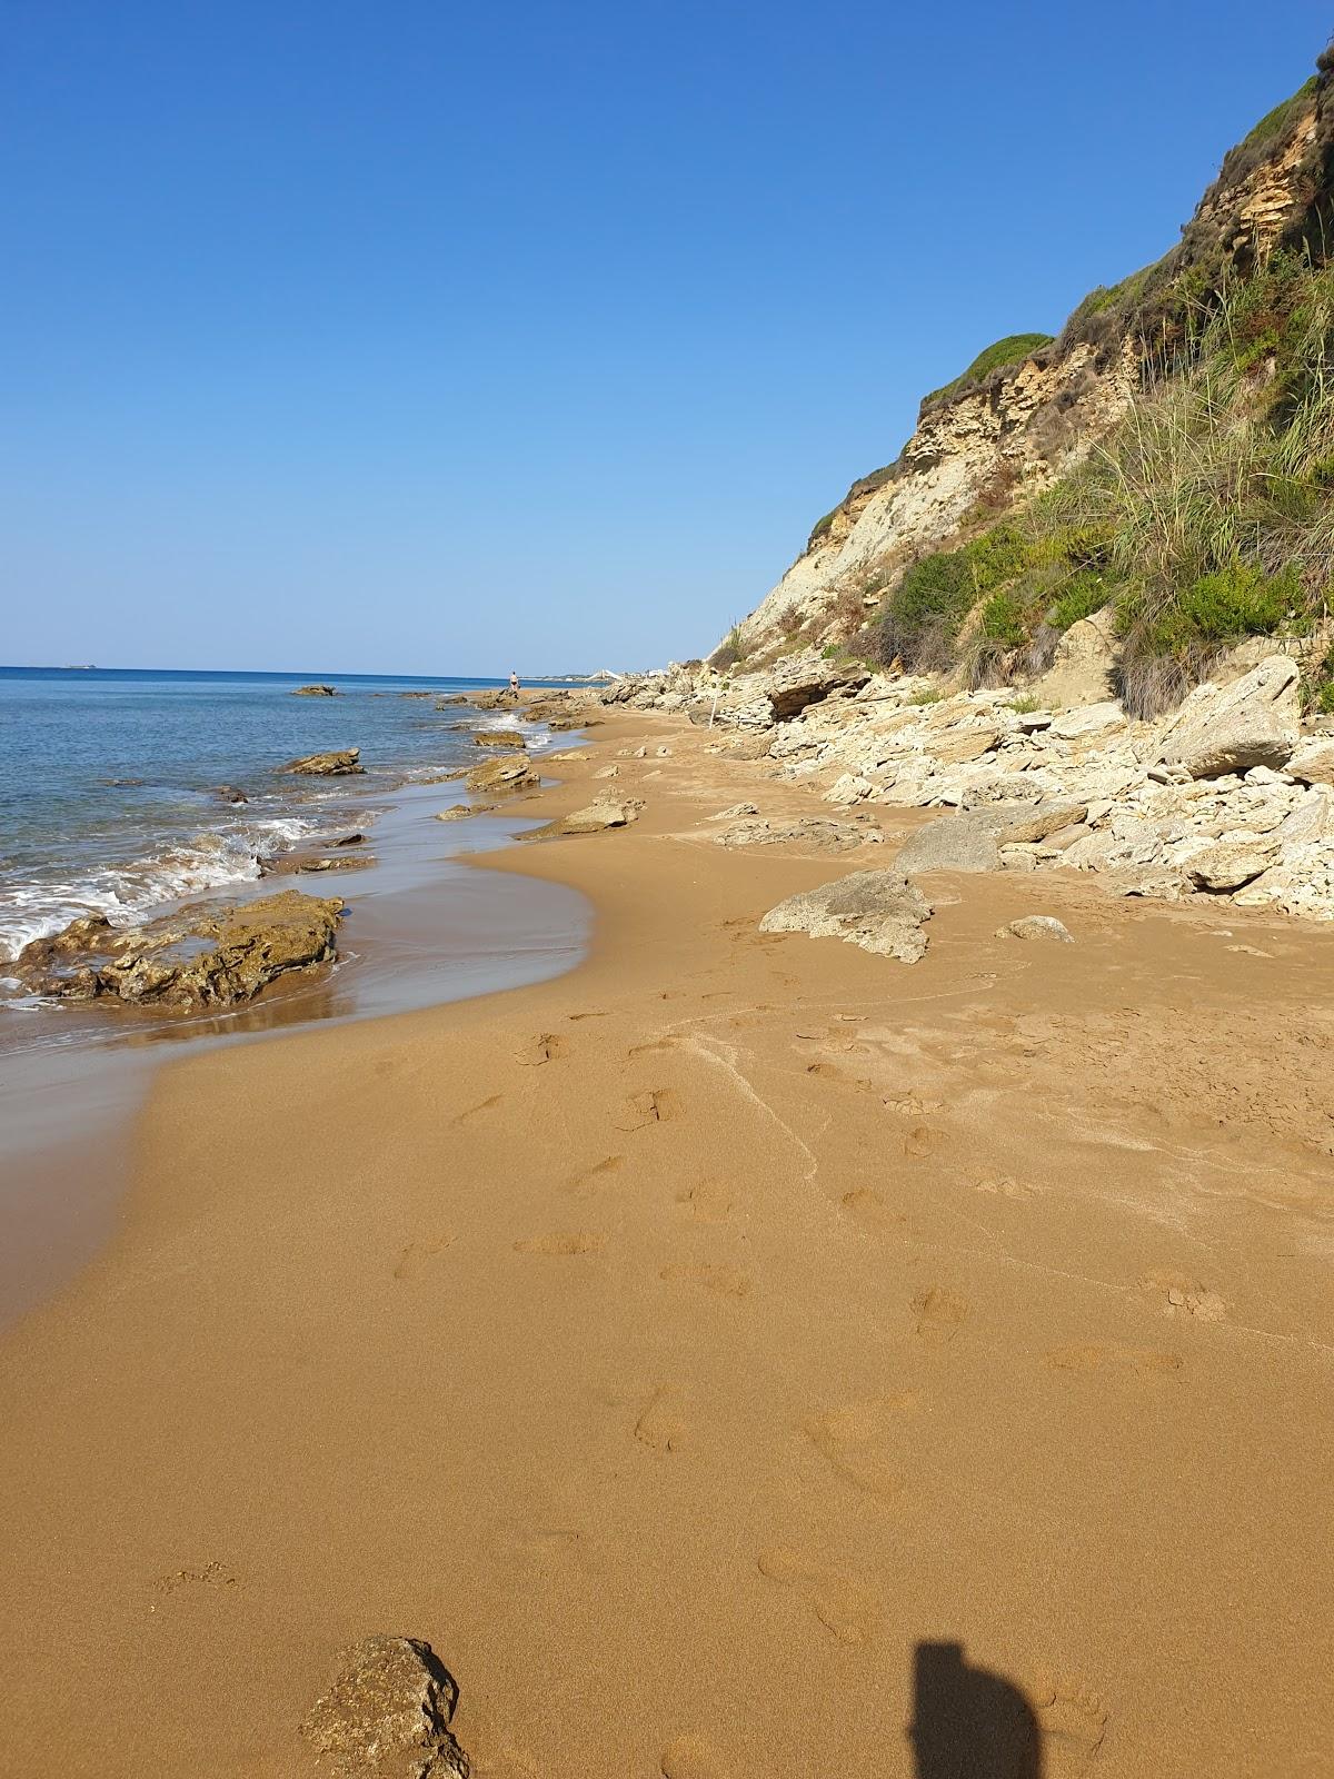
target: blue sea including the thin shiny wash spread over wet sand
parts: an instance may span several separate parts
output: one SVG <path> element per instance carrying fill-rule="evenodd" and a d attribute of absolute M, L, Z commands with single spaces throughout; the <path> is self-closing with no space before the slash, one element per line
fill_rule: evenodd
<path fill-rule="evenodd" d="M 308 683 L 336 696 L 293 696 Z M 585 954 L 592 911 L 576 890 L 475 868 L 539 825 L 523 799 L 436 820 L 468 801 L 443 776 L 484 758 L 473 731 L 516 724 L 438 699 L 502 683 L 0 667 L 0 1325 L 110 1236 L 132 1123 L 167 1059 L 542 982 Z M 523 738 L 535 760 L 580 744 L 534 722 Z M 279 770 L 336 747 L 359 747 L 365 772 Z M 356 868 L 281 875 L 285 852 L 350 833 L 365 845 L 338 859 Z M 279 890 L 343 902 L 338 962 L 295 971 L 245 1007 L 187 1016 L 43 1002 L 5 971 L 80 914 L 128 925 Z"/>

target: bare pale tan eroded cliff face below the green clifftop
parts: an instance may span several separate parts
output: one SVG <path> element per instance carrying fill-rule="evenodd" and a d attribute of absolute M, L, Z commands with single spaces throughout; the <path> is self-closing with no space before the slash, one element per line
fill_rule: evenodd
<path fill-rule="evenodd" d="M 912 560 L 953 548 L 1078 464 L 1124 415 L 1165 297 L 1192 276 L 1201 290 L 1217 288 L 1227 267 L 1247 270 L 1281 242 L 1309 237 L 1327 221 L 1332 162 L 1325 75 L 1272 141 L 1233 149 L 1181 242 L 1128 281 L 1131 295 L 1096 315 L 1081 308 L 1051 345 L 925 406 L 896 463 L 852 486 L 738 626 L 745 655 L 772 656 L 797 632 L 802 644 L 841 640 L 859 601 L 873 607 Z"/>

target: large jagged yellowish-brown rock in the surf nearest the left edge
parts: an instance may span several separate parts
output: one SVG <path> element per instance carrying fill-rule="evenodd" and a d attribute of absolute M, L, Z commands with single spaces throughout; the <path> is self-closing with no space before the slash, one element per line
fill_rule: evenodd
<path fill-rule="evenodd" d="M 342 898 L 285 890 L 233 906 L 196 904 L 141 927 L 87 914 L 34 939 L 7 968 L 30 993 L 57 1000 L 235 1007 L 290 970 L 331 962 L 342 913 Z"/>

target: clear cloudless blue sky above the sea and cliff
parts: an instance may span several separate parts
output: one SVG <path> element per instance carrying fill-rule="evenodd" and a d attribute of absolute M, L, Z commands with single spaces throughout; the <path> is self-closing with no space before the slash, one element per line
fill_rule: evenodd
<path fill-rule="evenodd" d="M 708 648 L 1327 0 L 4 0 L 7 662 Z"/>

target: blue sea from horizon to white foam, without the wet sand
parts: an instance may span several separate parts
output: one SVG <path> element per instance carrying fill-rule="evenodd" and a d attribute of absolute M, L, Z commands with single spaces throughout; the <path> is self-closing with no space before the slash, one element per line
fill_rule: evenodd
<path fill-rule="evenodd" d="M 0 975 L 78 914 L 132 920 L 256 879 L 265 857 L 374 818 L 377 795 L 477 760 L 450 731 L 457 708 L 398 694 L 503 683 L 329 676 L 338 697 L 292 696 L 313 678 L 0 667 Z M 365 776 L 276 770 L 333 747 L 359 747 Z"/>

